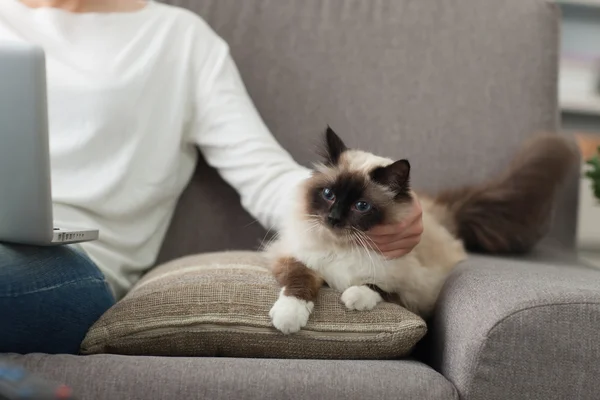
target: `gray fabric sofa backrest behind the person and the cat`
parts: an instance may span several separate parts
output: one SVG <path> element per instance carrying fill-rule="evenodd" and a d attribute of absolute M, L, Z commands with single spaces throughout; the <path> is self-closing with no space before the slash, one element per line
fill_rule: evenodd
<path fill-rule="evenodd" d="M 258 110 L 301 163 L 332 125 L 435 191 L 488 177 L 557 129 L 558 10 L 542 0 L 171 0 L 230 45 Z M 571 245 L 576 179 L 554 236 Z M 256 248 L 265 232 L 200 162 L 159 261 Z"/>

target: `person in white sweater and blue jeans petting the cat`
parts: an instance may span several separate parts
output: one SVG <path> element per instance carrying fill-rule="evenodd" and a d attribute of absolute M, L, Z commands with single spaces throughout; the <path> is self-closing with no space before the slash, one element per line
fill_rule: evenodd
<path fill-rule="evenodd" d="M 198 16 L 139 0 L 2 0 L 0 40 L 46 52 L 57 225 L 80 247 L 0 244 L 0 352 L 76 353 L 88 328 L 155 261 L 198 146 L 264 226 L 309 170 L 262 122 L 223 42 Z M 1 145 L 1 144 L 0 144 Z M 371 232 L 410 251 L 421 210 Z"/>

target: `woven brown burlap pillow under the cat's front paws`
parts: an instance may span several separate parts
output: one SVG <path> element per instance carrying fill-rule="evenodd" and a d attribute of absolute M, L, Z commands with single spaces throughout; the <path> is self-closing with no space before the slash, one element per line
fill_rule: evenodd
<path fill-rule="evenodd" d="M 279 287 L 253 252 L 185 257 L 157 267 L 88 332 L 83 354 L 380 359 L 406 355 L 426 331 L 404 308 L 348 311 L 323 288 L 308 325 L 284 335 L 269 310 Z"/>

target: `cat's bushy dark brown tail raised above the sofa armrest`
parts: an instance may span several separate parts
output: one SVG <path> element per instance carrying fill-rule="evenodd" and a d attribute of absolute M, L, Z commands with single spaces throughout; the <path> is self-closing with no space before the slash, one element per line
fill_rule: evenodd
<path fill-rule="evenodd" d="M 556 193 L 578 161 L 570 140 L 538 136 L 495 179 L 444 191 L 434 209 L 470 251 L 525 253 L 548 232 Z"/>

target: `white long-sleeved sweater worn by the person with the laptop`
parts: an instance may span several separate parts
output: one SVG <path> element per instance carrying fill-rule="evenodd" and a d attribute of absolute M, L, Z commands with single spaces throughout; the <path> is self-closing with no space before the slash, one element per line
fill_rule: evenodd
<path fill-rule="evenodd" d="M 227 44 L 191 12 L 149 2 L 73 14 L 0 0 L 0 40 L 46 51 L 56 226 L 100 229 L 82 247 L 117 297 L 154 263 L 195 146 L 263 226 L 277 226 L 309 174 L 269 133 Z"/>

